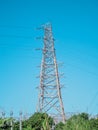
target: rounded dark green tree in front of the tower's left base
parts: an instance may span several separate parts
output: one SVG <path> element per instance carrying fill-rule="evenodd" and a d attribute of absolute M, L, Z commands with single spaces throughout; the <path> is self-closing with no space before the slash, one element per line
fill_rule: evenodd
<path fill-rule="evenodd" d="M 23 128 L 34 130 L 50 130 L 53 125 L 53 119 L 46 113 L 35 113 L 28 120 L 23 121 Z"/>

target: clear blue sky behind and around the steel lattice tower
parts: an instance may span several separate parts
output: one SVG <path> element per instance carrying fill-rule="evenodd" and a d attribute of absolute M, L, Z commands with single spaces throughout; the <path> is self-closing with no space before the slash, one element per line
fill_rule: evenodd
<path fill-rule="evenodd" d="M 0 0 L 0 111 L 34 113 L 43 43 L 51 22 L 65 113 L 98 113 L 98 1 Z"/>

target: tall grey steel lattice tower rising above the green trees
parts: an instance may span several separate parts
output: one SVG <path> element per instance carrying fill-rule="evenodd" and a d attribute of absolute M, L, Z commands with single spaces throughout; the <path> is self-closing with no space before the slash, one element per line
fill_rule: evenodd
<path fill-rule="evenodd" d="M 48 113 L 57 122 L 58 120 L 65 122 L 52 26 L 46 24 L 42 28 L 44 30 L 44 47 L 42 49 L 37 111 Z"/>

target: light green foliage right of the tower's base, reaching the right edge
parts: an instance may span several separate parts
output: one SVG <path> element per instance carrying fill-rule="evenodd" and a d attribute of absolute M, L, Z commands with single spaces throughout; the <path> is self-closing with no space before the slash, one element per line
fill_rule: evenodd
<path fill-rule="evenodd" d="M 55 130 L 98 130 L 98 119 L 89 119 L 87 113 L 73 115 L 65 124 L 57 124 Z"/>

